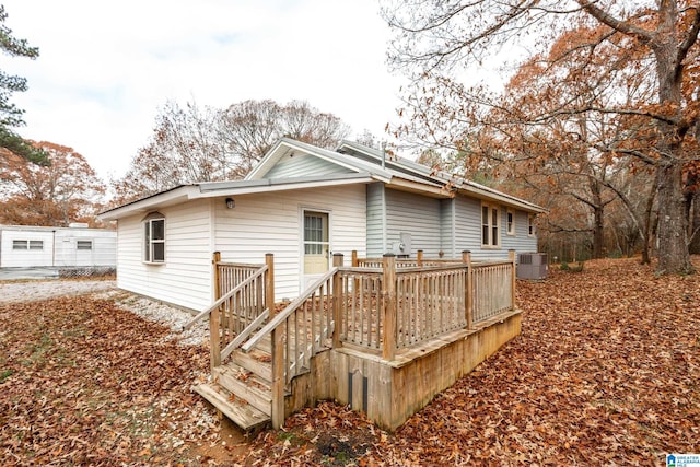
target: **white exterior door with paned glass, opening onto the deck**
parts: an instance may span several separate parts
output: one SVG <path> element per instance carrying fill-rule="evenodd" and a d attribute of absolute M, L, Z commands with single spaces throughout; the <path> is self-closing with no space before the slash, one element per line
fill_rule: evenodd
<path fill-rule="evenodd" d="M 304 260 L 302 291 L 328 271 L 330 244 L 328 242 L 328 213 L 304 211 Z"/>

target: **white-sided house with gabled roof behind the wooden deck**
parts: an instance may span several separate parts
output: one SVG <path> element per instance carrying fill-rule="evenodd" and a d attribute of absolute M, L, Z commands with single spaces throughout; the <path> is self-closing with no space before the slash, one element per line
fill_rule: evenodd
<path fill-rule="evenodd" d="M 298 296 L 332 254 L 508 258 L 537 250 L 530 202 L 343 142 L 283 138 L 244 180 L 179 186 L 103 212 L 118 222 L 118 287 L 194 311 L 214 301 L 212 254 L 275 255 L 276 299 Z"/>

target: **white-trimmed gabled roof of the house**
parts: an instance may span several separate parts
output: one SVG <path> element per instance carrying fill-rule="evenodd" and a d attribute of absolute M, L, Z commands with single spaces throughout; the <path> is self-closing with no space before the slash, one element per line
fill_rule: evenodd
<path fill-rule="evenodd" d="M 303 154 L 324 161 L 327 167 L 339 171 L 293 177 L 268 177 L 284 157 Z M 109 209 L 100 214 L 103 220 L 116 220 L 137 212 L 148 212 L 192 199 L 248 195 L 268 191 L 284 191 L 332 185 L 368 184 L 380 182 L 390 188 L 419 192 L 434 198 L 453 198 L 463 192 L 483 200 L 497 201 L 528 212 L 545 212 L 545 209 L 520 198 L 494 190 L 474 182 L 456 178 L 402 157 L 385 159 L 383 151 L 342 141 L 336 151 L 312 144 L 280 139 L 267 152 L 256 167 L 243 179 L 231 182 L 206 182 L 161 191 L 136 201 Z"/>

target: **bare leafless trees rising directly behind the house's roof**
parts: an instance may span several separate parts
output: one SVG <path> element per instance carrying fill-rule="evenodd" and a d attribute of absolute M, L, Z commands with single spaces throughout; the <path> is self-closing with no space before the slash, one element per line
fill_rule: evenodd
<path fill-rule="evenodd" d="M 349 128 L 305 102 L 244 101 L 225 109 L 168 102 L 127 174 L 113 180 L 122 203 L 178 185 L 240 179 L 281 137 L 331 148 Z"/>

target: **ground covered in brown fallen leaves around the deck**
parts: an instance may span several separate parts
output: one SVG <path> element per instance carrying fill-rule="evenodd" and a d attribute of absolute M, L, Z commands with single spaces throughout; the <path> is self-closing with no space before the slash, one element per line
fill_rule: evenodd
<path fill-rule="evenodd" d="M 0 465 L 653 466 L 700 452 L 700 275 L 590 261 L 518 281 L 518 304 L 522 335 L 395 433 L 322 402 L 235 462 L 213 455 L 231 446 L 189 390 L 205 347 L 109 300 L 0 306 Z"/>

